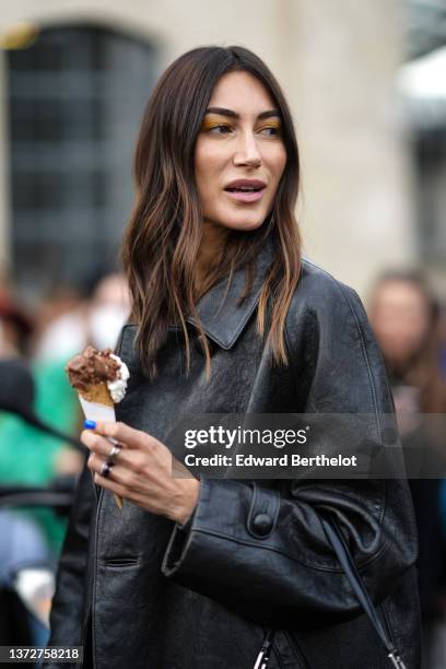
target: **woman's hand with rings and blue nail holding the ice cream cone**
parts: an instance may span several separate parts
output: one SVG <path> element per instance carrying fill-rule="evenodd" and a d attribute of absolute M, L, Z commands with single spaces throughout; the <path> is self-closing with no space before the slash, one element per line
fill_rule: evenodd
<path fill-rule="evenodd" d="M 113 437 L 121 447 L 107 478 L 99 474 L 113 448 L 105 436 Z M 150 434 L 126 423 L 97 421 L 94 432 L 82 432 L 81 441 L 91 450 L 87 467 L 98 485 L 179 524 L 184 524 L 197 506 L 200 482 L 192 477 L 173 478 L 172 468 L 181 467 L 180 462 Z"/>

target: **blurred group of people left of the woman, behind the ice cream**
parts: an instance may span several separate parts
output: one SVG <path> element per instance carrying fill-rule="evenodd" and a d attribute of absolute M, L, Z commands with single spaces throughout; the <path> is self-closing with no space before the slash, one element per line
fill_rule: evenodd
<path fill-rule="evenodd" d="M 114 348 L 129 309 L 126 280 L 118 272 L 94 278 L 83 291 L 60 286 L 33 310 L 20 303 L 11 287 L 0 285 L 0 362 L 22 360 L 26 364 L 35 389 L 30 410 L 39 420 L 79 436 L 80 403 L 64 366 L 89 343 Z M 0 485 L 45 486 L 55 477 L 79 473 L 82 465 L 80 450 L 0 407 Z M 26 516 L 35 523 L 49 553 L 57 556 L 67 519 L 50 508 L 26 509 Z"/>

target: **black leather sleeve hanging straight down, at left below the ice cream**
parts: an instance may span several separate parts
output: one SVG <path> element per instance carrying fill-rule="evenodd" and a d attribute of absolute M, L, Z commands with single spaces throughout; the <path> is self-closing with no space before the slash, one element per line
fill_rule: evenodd
<path fill-rule="evenodd" d="M 50 636 L 47 646 L 81 646 L 85 615 L 85 579 L 87 575 L 89 530 L 96 506 L 96 493 L 91 471 L 85 463 L 75 489 L 68 528 L 58 562 L 56 591 L 49 618 Z M 79 665 L 77 665 L 79 667 Z M 67 667 L 48 661 L 45 669 Z"/>

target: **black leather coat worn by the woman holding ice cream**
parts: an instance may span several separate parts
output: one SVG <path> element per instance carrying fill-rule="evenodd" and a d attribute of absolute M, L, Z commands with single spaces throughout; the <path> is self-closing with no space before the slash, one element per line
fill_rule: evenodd
<path fill-rule="evenodd" d="M 394 411 L 357 294 L 306 259 L 286 319 L 291 364 L 267 363 L 255 313 L 269 261 L 266 247 L 242 306 L 242 271 L 216 316 L 223 284 L 199 303 L 212 344 L 209 383 L 197 338 L 191 374 L 181 375 L 175 328 L 160 353 L 159 377 L 149 382 L 132 345 L 136 327 L 124 328 L 117 352 L 131 378 L 118 420 L 164 441 L 188 412 L 367 412 L 378 421 Z M 270 669 L 385 669 L 389 660 L 325 538 L 320 501 L 339 512 L 367 589 L 408 669 L 416 669 L 416 531 L 407 481 L 398 479 L 204 477 L 181 528 L 128 502 L 120 512 L 85 468 L 59 563 L 49 644 L 81 645 L 91 624 L 97 669 L 253 669 L 272 624 Z M 271 518 L 265 531 L 255 527 L 259 512 Z"/>

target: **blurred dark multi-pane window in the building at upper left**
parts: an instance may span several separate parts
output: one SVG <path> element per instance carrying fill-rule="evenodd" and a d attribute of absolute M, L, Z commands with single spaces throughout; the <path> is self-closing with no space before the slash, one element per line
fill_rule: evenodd
<path fill-rule="evenodd" d="M 115 261 L 156 58 L 136 37 L 70 25 L 9 51 L 8 66 L 13 266 L 35 298 Z"/>

